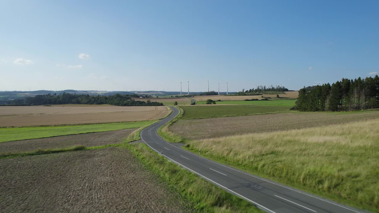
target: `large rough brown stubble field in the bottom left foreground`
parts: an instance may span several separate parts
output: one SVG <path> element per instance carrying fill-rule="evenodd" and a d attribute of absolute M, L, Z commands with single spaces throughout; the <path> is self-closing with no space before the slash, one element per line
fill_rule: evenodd
<path fill-rule="evenodd" d="M 0 160 L 2 212 L 188 212 L 130 150 L 110 147 Z"/>

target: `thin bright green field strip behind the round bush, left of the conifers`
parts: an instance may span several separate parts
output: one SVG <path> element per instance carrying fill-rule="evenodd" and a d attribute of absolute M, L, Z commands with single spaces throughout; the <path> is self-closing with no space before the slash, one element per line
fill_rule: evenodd
<path fill-rule="evenodd" d="M 264 106 L 283 106 L 283 107 L 293 107 L 296 100 L 224 100 L 216 101 L 216 104 L 238 104 L 238 105 L 264 105 Z M 196 104 L 205 104 L 205 101 L 198 101 Z"/>

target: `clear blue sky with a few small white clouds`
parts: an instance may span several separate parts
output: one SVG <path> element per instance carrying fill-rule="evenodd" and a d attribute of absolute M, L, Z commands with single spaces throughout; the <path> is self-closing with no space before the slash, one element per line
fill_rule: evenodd
<path fill-rule="evenodd" d="M 0 91 L 291 90 L 379 73 L 379 1 L 0 0 Z"/>

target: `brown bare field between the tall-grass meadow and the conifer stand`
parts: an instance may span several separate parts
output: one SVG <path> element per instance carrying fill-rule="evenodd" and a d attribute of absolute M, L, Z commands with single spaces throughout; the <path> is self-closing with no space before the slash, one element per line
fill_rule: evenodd
<path fill-rule="evenodd" d="M 274 132 L 321 127 L 379 118 L 379 111 L 324 113 L 295 112 L 253 116 L 179 120 L 169 127 L 186 139 L 197 140 L 246 133 Z"/>

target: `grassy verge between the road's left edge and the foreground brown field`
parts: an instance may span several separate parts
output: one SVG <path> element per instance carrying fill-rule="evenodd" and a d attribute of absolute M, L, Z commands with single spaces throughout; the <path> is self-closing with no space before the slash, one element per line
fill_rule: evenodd
<path fill-rule="evenodd" d="M 263 212 L 250 202 L 241 199 L 216 185 L 161 157 L 146 144 L 124 144 L 152 170 L 171 190 L 179 192 L 196 212 Z"/>

